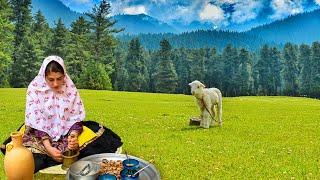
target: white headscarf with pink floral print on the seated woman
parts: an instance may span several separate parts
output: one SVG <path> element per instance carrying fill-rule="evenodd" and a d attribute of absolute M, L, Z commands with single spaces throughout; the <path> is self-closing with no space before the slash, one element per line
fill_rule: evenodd
<path fill-rule="evenodd" d="M 45 69 L 51 61 L 58 62 L 65 72 L 61 93 L 52 91 L 45 81 Z M 53 141 L 58 141 L 73 124 L 85 118 L 78 90 L 66 72 L 62 58 L 49 56 L 44 59 L 38 75 L 27 90 L 25 124 L 46 132 Z"/>

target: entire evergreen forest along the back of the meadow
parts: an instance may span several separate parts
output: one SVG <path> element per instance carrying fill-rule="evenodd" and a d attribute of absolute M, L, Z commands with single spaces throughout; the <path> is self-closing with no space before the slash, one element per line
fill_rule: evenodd
<path fill-rule="evenodd" d="M 224 96 L 320 97 L 319 42 L 258 51 L 228 44 L 220 51 L 173 48 L 162 39 L 159 49 L 146 50 L 139 38 L 115 39 L 120 30 L 113 28 L 106 0 L 70 29 L 61 19 L 50 28 L 40 11 L 31 16 L 30 5 L 31 0 L 0 0 L 0 87 L 26 87 L 42 60 L 54 54 L 85 89 L 189 94 L 188 83 L 200 80 Z"/>

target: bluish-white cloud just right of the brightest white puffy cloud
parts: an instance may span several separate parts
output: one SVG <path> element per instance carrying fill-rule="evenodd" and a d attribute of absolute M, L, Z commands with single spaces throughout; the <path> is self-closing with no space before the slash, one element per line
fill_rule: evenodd
<path fill-rule="evenodd" d="M 255 19 L 262 7 L 261 1 L 240 1 L 234 5 L 235 11 L 231 15 L 231 20 L 239 24 Z"/>

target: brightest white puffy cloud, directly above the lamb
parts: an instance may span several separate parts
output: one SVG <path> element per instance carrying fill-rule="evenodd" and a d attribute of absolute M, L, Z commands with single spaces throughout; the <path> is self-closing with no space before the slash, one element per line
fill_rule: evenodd
<path fill-rule="evenodd" d="M 224 11 L 215 5 L 206 3 L 202 11 L 199 13 L 201 20 L 209 20 L 215 24 L 220 24 L 224 19 Z"/>

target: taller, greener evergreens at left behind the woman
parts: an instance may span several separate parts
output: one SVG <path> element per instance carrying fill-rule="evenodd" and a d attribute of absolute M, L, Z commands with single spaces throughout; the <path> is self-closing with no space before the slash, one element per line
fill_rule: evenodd
<path fill-rule="evenodd" d="M 103 0 L 67 29 L 50 28 L 42 12 L 31 15 L 31 0 L 0 0 L 0 87 L 26 87 L 48 55 L 61 56 L 80 88 L 112 89 L 116 40 L 110 4 Z"/>

